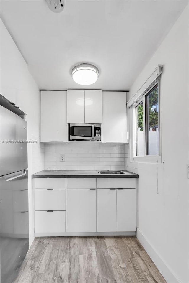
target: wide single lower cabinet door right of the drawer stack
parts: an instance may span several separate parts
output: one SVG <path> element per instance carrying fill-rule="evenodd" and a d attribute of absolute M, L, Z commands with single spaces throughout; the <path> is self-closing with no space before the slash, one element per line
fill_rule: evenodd
<path fill-rule="evenodd" d="M 66 189 L 66 232 L 97 231 L 96 189 Z"/>

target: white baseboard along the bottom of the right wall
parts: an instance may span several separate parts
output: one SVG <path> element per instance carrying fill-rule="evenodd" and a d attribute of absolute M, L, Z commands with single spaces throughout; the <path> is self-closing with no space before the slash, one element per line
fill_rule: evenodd
<path fill-rule="evenodd" d="M 176 278 L 170 267 L 167 266 L 167 264 L 163 261 L 161 256 L 154 249 L 154 247 L 151 245 L 151 243 L 148 241 L 148 239 L 144 236 L 144 234 L 140 231 L 139 228 L 137 228 L 136 237 L 146 250 L 147 254 L 149 254 L 151 260 L 157 266 L 159 272 L 161 272 L 167 283 L 182 283 L 179 279 Z"/>

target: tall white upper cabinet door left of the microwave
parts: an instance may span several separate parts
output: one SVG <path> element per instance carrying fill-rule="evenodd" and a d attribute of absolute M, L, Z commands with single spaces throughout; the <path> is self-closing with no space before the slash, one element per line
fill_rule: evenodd
<path fill-rule="evenodd" d="M 41 91 L 40 141 L 67 141 L 66 91 Z"/>

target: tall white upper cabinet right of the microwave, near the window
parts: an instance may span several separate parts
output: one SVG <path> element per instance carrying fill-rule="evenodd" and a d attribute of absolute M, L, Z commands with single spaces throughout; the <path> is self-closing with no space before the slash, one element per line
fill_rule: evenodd
<path fill-rule="evenodd" d="M 102 142 L 128 142 L 124 91 L 102 92 Z"/>

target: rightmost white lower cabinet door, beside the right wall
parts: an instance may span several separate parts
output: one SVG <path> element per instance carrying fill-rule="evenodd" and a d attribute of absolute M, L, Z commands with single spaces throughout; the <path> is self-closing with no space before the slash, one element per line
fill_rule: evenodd
<path fill-rule="evenodd" d="M 117 231 L 136 231 L 136 189 L 117 189 Z"/>

